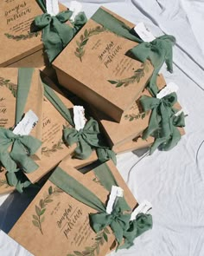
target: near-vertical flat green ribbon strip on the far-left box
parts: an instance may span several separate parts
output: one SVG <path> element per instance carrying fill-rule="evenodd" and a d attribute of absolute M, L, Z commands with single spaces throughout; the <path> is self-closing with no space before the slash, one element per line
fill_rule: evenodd
<path fill-rule="evenodd" d="M 33 75 L 33 68 L 18 69 L 17 93 L 16 93 L 16 120 L 17 124 L 22 119 L 25 104 L 29 95 L 31 80 Z"/>

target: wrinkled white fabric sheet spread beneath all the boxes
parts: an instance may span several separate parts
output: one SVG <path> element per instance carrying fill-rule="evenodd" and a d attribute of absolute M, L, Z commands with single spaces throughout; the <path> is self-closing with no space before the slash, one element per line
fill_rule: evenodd
<path fill-rule="evenodd" d="M 70 1 L 63 1 L 69 7 Z M 176 148 L 151 156 L 136 153 L 118 156 L 118 169 L 136 199 L 153 204 L 153 229 L 139 237 L 135 246 L 113 255 L 204 255 L 204 1 L 124 0 L 80 1 L 88 17 L 101 3 L 132 23 L 144 22 L 155 36 L 176 37 L 174 73 L 163 67 L 167 82 L 178 84 L 179 102 L 188 109 L 186 133 Z M 87 3 L 89 2 L 89 3 Z M 110 3 L 107 3 L 110 2 Z M 114 2 L 114 3 L 113 3 Z M 141 154 L 141 152 L 140 152 Z M 8 232 L 26 195 L 0 197 L 0 228 Z M 22 231 L 23 232 L 23 231 Z M 25 232 L 25 231 L 24 231 Z M 0 232 L 0 255 L 30 255 Z"/>

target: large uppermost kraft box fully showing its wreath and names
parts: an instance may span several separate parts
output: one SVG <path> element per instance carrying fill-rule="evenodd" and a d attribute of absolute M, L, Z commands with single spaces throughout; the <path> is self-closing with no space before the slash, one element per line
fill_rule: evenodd
<path fill-rule="evenodd" d="M 122 17 L 117 18 L 134 27 Z M 153 72 L 149 61 L 143 64 L 125 55 L 136 45 L 91 18 L 54 60 L 54 69 L 62 86 L 120 121 Z"/>

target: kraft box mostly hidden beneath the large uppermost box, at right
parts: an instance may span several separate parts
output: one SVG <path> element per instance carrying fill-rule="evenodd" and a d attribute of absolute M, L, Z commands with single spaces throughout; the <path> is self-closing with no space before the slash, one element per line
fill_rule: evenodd
<path fill-rule="evenodd" d="M 163 89 L 165 85 L 166 82 L 163 75 L 159 75 L 157 77 L 158 88 Z M 142 95 L 150 96 L 150 93 L 147 89 L 144 89 L 141 96 Z M 181 108 L 177 103 L 176 107 L 179 109 Z M 132 104 L 120 123 L 113 121 L 107 115 L 97 111 L 95 108 L 90 108 L 93 116 L 101 124 L 101 128 L 104 130 L 110 147 L 113 150 L 117 150 L 120 146 L 123 148 L 124 143 L 131 141 L 142 134 L 143 130 L 149 125 L 151 111 L 143 112 L 139 99 Z"/>

